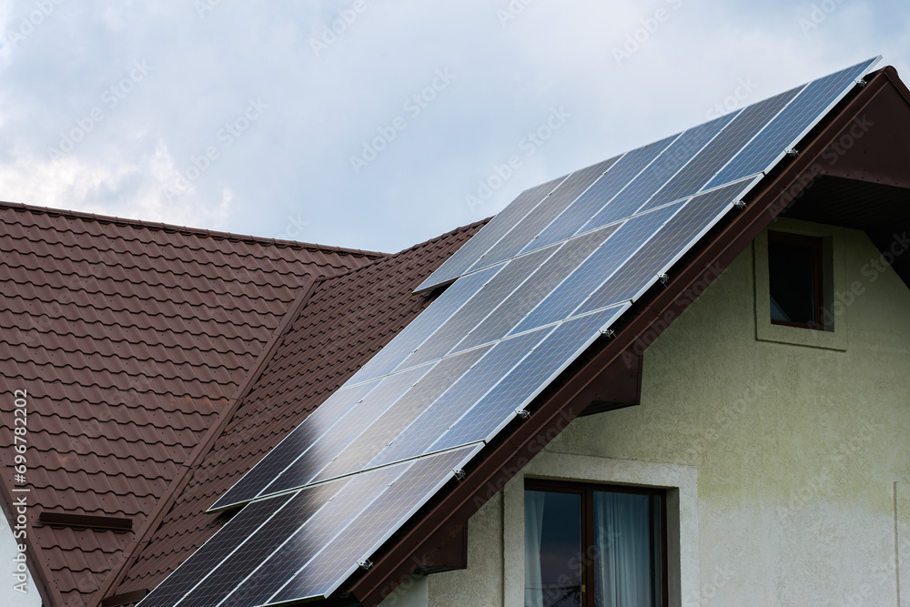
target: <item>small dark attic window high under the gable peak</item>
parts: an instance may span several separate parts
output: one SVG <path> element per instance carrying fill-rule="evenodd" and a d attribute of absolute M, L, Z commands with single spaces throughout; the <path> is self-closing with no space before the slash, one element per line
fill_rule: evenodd
<path fill-rule="evenodd" d="M 768 233 L 771 322 L 824 330 L 822 239 Z"/>

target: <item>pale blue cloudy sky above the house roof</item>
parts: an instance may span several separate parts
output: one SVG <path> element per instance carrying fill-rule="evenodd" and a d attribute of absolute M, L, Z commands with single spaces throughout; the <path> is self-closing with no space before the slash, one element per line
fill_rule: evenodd
<path fill-rule="evenodd" d="M 905 0 L 0 0 L 0 200 L 395 252 L 882 55 Z"/>

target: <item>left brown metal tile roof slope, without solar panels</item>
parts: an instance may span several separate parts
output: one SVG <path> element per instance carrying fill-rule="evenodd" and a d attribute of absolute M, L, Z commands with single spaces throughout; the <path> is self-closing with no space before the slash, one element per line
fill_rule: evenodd
<path fill-rule="evenodd" d="M 76 606 L 128 553 L 301 286 L 382 257 L 10 203 L 0 255 L 0 453 L 12 462 L 13 390 L 26 389 L 29 540 L 51 602 Z M 51 527 L 41 511 L 127 517 L 134 532 Z"/>

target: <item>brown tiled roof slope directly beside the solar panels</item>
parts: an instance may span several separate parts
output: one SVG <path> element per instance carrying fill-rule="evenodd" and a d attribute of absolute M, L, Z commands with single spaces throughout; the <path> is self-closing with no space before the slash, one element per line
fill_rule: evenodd
<path fill-rule="evenodd" d="M 124 581 L 106 595 L 154 588 L 211 537 L 225 519 L 207 508 L 430 304 L 413 289 L 482 225 L 319 281 Z"/>

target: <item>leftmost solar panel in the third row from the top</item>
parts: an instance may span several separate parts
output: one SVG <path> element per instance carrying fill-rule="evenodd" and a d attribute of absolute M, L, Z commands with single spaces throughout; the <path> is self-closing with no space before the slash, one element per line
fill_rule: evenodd
<path fill-rule="evenodd" d="M 369 390 L 378 385 L 377 380 L 349 388 L 342 387 L 336 391 L 222 495 L 210 510 L 221 510 L 252 500 L 281 473 L 281 470 L 297 460 L 301 453 L 335 426 L 358 400 L 363 399 Z"/>

